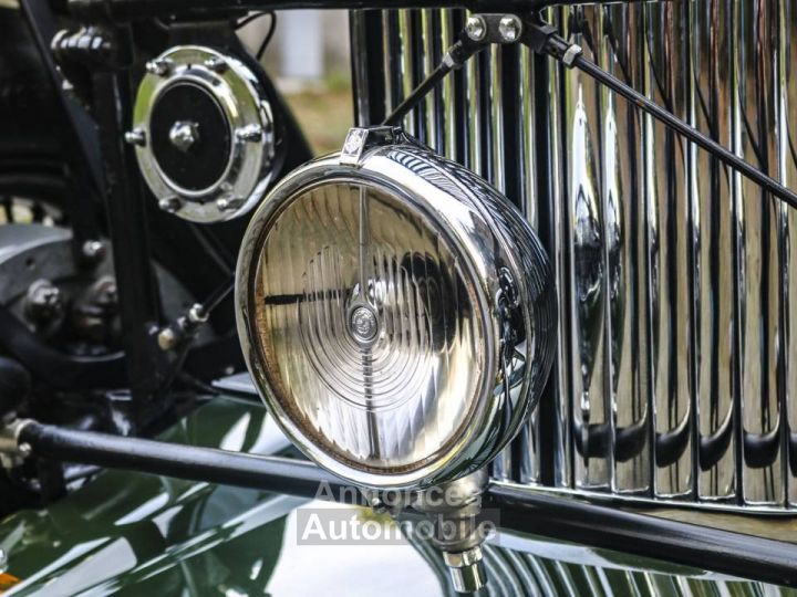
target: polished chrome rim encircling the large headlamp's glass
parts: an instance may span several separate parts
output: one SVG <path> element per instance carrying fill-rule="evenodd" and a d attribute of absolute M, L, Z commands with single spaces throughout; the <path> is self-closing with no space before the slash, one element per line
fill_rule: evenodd
<path fill-rule="evenodd" d="M 416 177 L 413 182 L 412 177 L 402 177 L 401 170 L 405 170 L 406 166 L 398 164 L 394 159 L 395 154 L 390 156 L 390 151 L 404 151 L 414 159 L 423 159 L 427 155 L 426 151 L 415 146 L 393 146 L 373 151 L 356 169 L 341 166 L 337 156 L 332 156 L 312 161 L 294 170 L 278 184 L 255 213 L 246 233 L 238 262 L 236 310 L 244 355 L 256 386 L 280 427 L 308 457 L 333 473 L 359 485 L 375 489 L 416 489 L 434 485 L 483 467 L 508 441 L 506 430 L 500 429 L 500 426 L 517 428 L 534 405 L 531 404 L 532 400 L 529 399 L 530 383 L 526 376 L 522 380 L 522 387 L 516 392 L 515 402 L 520 408 L 511 409 L 511 405 L 506 404 L 508 395 L 496 396 L 495 394 L 496 376 L 499 375 L 500 367 L 499 350 L 501 348 L 496 345 L 496 338 L 500 335 L 501 321 L 499 313 L 495 308 L 488 310 L 486 306 L 496 304 L 496 294 L 499 292 L 499 287 L 497 280 L 486 275 L 490 265 L 476 262 L 479 248 L 473 247 L 473 239 L 477 238 L 474 237 L 474 231 L 466 230 L 466 223 L 456 219 L 456 206 L 454 202 L 459 203 L 459 207 L 465 207 L 462 203 L 462 197 L 468 192 L 467 188 L 459 186 L 456 189 L 456 195 L 451 192 L 451 189 L 446 191 L 451 192 L 449 205 L 446 207 L 452 209 L 448 212 L 442 211 L 439 206 L 435 208 L 428 199 L 428 193 L 433 190 L 428 180 Z M 435 159 L 439 158 L 435 156 Z M 436 167 L 432 161 L 427 166 Z M 459 167 L 457 166 L 457 168 Z M 422 213 L 424 218 L 428 218 L 433 222 L 436 230 L 447 234 L 448 242 L 455 247 L 458 256 L 466 264 L 468 281 L 474 286 L 477 295 L 480 324 L 485 329 L 486 365 L 479 383 L 478 395 L 474 398 L 473 408 L 466 417 L 468 425 L 457 437 L 452 439 L 449 444 L 441 447 L 439 454 L 435 452 L 437 455 L 434 460 L 408 471 L 386 473 L 384 471 L 364 470 L 363 467 L 346 462 L 344 458 L 341 458 L 341 454 L 330 453 L 323 446 L 314 442 L 308 432 L 301 429 L 290 413 L 286 411 L 279 398 L 275 395 L 269 384 L 268 373 L 265 370 L 265 358 L 259 354 L 259 339 L 251 321 L 255 312 L 252 285 L 260 262 L 259 253 L 265 242 L 263 238 L 268 233 L 271 223 L 279 216 L 280 210 L 289 205 L 292 198 L 302 196 L 313 187 L 340 182 L 359 186 L 373 185 L 383 190 L 387 189 L 394 197 L 401 197 L 408 201 L 415 213 Z M 484 181 L 480 181 L 480 184 L 486 185 Z M 443 192 L 441 191 L 441 196 Z M 472 200 L 474 200 L 473 195 L 470 192 Z M 487 216 L 473 206 L 463 213 L 483 220 Z M 484 221 L 484 223 L 487 226 L 487 221 Z M 487 226 L 485 230 L 488 229 Z M 501 242 L 504 241 L 499 242 L 495 238 L 493 239 L 493 243 L 496 245 L 501 244 Z M 519 271 L 513 256 L 504 256 L 511 268 Z M 525 281 L 520 281 L 520 285 L 524 286 L 524 284 Z M 526 307 L 524 306 L 524 308 Z M 526 336 L 534 344 L 534 342 L 537 342 L 536 337 L 529 334 L 537 334 L 542 331 L 532 329 L 529 313 L 524 313 L 522 320 L 526 326 Z M 548 364 L 549 366 L 550 364 Z"/>

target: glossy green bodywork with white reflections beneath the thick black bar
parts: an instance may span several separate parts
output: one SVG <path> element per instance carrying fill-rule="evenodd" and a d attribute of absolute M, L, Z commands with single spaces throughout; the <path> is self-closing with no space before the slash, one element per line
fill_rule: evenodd
<path fill-rule="evenodd" d="M 255 453 L 290 448 L 262 407 L 222 397 L 162 436 Z M 106 471 L 41 511 L 0 523 L 4 595 L 393 596 L 451 594 L 421 541 L 302 542 L 301 509 L 355 506 Z M 306 519 L 306 517 L 304 517 Z M 617 552 L 513 532 L 486 549 L 489 595 L 797 595 Z M 382 520 L 380 524 L 392 524 Z"/>

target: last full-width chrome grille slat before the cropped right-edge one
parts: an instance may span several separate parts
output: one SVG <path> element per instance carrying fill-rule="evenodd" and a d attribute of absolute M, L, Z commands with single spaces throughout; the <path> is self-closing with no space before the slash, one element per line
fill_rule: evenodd
<path fill-rule="evenodd" d="M 779 177 L 773 69 L 777 64 L 777 14 L 770 2 L 735 4 L 734 69 L 738 90 L 736 151 L 767 174 Z M 737 227 L 741 260 L 741 384 L 743 420 L 743 494 L 745 502 L 782 501 L 780 390 L 777 353 L 779 321 L 779 232 L 776 200 L 737 177 Z"/>

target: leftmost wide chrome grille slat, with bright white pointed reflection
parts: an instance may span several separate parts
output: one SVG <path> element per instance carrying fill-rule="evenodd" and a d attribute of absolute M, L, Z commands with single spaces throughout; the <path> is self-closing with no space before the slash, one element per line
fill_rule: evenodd
<path fill-rule="evenodd" d="M 603 27 L 600 7 L 583 7 L 569 21 L 571 39 L 584 55 L 601 63 Z M 607 394 L 607 263 L 605 219 L 601 201 L 602 90 L 580 71 L 565 76 L 563 144 L 568 172 L 563 185 L 570 227 L 569 281 L 572 289 L 571 387 L 573 474 L 578 489 L 608 490 L 611 485 L 611 405 Z M 566 154 L 566 155 L 567 155 Z"/>

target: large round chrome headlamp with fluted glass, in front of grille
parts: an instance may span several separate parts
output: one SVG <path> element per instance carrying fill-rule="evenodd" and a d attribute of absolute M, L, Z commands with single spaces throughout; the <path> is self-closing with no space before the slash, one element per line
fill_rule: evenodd
<path fill-rule="evenodd" d="M 486 181 L 397 132 L 353 129 L 255 213 L 238 328 L 266 405 L 311 459 L 363 486 L 425 488 L 484 467 L 536 405 L 550 280 Z"/>

